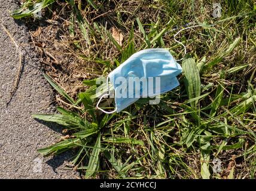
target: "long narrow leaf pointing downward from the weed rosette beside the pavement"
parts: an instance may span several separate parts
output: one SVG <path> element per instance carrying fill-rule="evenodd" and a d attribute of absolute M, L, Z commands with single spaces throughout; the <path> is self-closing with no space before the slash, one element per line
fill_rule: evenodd
<path fill-rule="evenodd" d="M 95 171 L 99 168 L 99 153 L 100 153 L 100 133 L 97 136 L 95 147 L 89 159 L 89 164 L 87 166 L 85 178 L 92 177 Z"/>

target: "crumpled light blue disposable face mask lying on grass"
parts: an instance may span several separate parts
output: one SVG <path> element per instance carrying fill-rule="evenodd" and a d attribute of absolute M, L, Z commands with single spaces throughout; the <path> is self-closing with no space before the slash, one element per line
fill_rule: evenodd
<path fill-rule="evenodd" d="M 115 110 L 106 112 L 99 107 L 102 98 L 109 96 L 109 87 L 96 107 L 104 113 L 120 112 L 141 97 L 158 96 L 177 87 L 176 76 L 181 72 L 181 66 L 166 49 L 139 51 L 108 75 L 106 85 L 110 81 L 114 87 Z"/>

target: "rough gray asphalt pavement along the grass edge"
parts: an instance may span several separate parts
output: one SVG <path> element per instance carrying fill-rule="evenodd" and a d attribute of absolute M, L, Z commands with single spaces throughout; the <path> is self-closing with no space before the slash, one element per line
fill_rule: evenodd
<path fill-rule="evenodd" d="M 19 70 L 19 51 L 0 25 L 0 178 L 77 178 L 77 173 L 65 170 L 72 153 L 42 158 L 36 152 L 54 143 L 60 134 L 58 128 L 49 128 L 31 118 L 31 113 L 53 112 L 53 94 L 29 45 L 28 29 L 22 21 L 10 17 L 9 11 L 18 7 L 16 2 L 0 0 L 4 26 L 25 47 L 17 91 L 6 105 Z"/>

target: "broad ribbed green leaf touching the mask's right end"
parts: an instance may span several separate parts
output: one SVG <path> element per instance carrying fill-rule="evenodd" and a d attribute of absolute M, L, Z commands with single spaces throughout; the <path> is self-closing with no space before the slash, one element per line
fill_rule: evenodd
<path fill-rule="evenodd" d="M 185 88 L 187 90 L 188 98 L 191 100 L 193 98 L 199 97 L 201 92 L 201 82 L 199 70 L 196 66 L 196 62 L 193 58 L 186 58 L 182 61 L 182 69 L 185 75 Z M 191 107 L 195 107 L 196 101 L 190 102 Z"/>

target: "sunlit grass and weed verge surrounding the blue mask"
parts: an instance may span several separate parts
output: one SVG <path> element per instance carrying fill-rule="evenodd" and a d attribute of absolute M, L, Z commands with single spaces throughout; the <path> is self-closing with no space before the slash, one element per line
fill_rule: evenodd
<path fill-rule="evenodd" d="M 83 178 L 255 178 L 254 1 L 219 1 L 221 18 L 212 17 L 214 1 L 37 2 L 40 9 L 48 5 L 44 19 L 59 25 L 41 24 L 33 41 L 43 39 L 45 47 L 38 49 L 65 61 L 44 65 L 59 95 L 59 114 L 33 118 L 60 124 L 68 134 L 39 153 L 76 150 L 72 164 Z M 35 5 L 26 1 L 13 17 L 38 11 L 29 6 Z M 26 20 L 31 28 L 44 23 Z M 158 105 L 143 98 L 121 113 L 95 109 L 97 77 L 145 48 L 168 48 L 181 58 L 184 51 L 173 35 L 191 22 L 202 27 L 177 36 L 188 50 L 178 88 L 161 95 Z M 111 27 L 123 33 L 123 44 Z M 212 169 L 215 158 L 220 172 Z"/>

